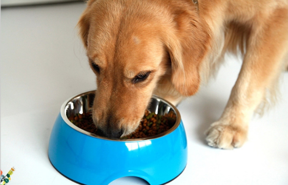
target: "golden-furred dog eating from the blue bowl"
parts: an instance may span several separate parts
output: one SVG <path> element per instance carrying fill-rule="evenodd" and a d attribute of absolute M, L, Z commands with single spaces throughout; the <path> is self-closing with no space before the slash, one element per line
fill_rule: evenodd
<path fill-rule="evenodd" d="M 194 95 L 230 52 L 241 70 L 206 141 L 241 147 L 287 67 L 286 0 L 90 0 L 77 26 L 96 74 L 93 121 L 111 138 L 138 127 L 152 94 L 174 105 Z"/>

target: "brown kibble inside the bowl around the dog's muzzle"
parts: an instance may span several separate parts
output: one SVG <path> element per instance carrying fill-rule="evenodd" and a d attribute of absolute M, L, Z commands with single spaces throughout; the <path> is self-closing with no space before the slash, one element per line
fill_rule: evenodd
<path fill-rule="evenodd" d="M 77 127 L 90 133 L 97 134 L 97 128 L 93 124 L 92 114 L 90 112 L 71 115 L 68 119 Z M 176 114 L 173 111 L 170 111 L 165 115 L 158 115 L 146 110 L 138 128 L 133 133 L 121 138 L 133 139 L 154 136 L 169 130 L 175 124 L 175 121 Z"/>

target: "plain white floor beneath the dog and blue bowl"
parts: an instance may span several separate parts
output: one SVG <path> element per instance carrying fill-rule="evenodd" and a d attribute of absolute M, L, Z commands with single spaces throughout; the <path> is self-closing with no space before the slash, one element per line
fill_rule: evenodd
<path fill-rule="evenodd" d="M 16 168 L 11 185 L 76 184 L 51 166 L 47 152 L 61 104 L 95 88 L 75 28 L 84 8 L 80 2 L 1 10 L 1 169 Z M 242 148 L 219 150 L 204 142 L 203 132 L 220 117 L 240 64 L 227 57 L 217 79 L 178 106 L 189 158 L 169 184 L 288 184 L 288 73 L 279 103 L 252 119 Z M 126 177 L 111 184 L 146 183 Z"/>

